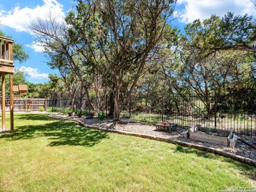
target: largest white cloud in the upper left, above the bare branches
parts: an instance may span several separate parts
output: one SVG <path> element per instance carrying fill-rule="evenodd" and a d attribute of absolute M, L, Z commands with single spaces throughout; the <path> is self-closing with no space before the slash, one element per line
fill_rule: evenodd
<path fill-rule="evenodd" d="M 43 0 L 43 5 L 29 8 L 21 8 L 18 4 L 12 10 L 0 10 L 0 21 L 4 26 L 14 28 L 17 31 L 25 31 L 31 34 L 29 25 L 36 18 L 44 20 L 50 13 L 56 17 L 57 21 L 63 21 L 65 13 L 63 5 L 57 0 Z"/>

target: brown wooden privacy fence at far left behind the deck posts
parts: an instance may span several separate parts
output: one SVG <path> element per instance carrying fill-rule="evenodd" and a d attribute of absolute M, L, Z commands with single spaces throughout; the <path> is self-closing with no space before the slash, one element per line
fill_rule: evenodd
<path fill-rule="evenodd" d="M 0 100 L 1 101 L 1 100 Z M 37 99 L 37 98 L 14 98 L 13 99 L 13 108 L 14 111 L 36 111 L 39 108 L 43 107 L 46 110 L 46 99 Z M 2 101 L 0 102 L 2 106 Z M 5 110 L 10 111 L 10 98 L 5 100 Z"/>

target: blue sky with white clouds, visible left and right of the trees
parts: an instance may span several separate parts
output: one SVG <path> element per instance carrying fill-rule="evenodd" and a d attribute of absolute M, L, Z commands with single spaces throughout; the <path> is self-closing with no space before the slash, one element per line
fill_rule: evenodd
<path fill-rule="evenodd" d="M 34 38 L 28 27 L 29 23 L 38 17 L 44 19 L 50 10 L 62 21 L 73 7 L 73 0 L 0 1 L 0 29 L 22 44 L 29 54 L 27 62 L 15 62 L 15 67 L 27 74 L 27 81 L 44 83 L 49 80 L 48 74 L 58 75 L 57 70 L 47 66 L 42 47 L 33 44 Z M 250 0 L 178 0 L 174 11 L 178 18 L 172 22 L 172 25 L 183 28 L 186 23 L 194 19 L 204 20 L 211 14 L 223 16 L 227 12 L 234 12 L 236 15 L 256 13 Z"/>

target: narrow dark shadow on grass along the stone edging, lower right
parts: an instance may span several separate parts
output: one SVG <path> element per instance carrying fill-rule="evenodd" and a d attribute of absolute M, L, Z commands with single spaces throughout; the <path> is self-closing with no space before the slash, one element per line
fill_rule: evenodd
<path fill-rule="evenodd" d="M 228 157 L 222 157 L 220 158 L 219 155 L 214 155 L 212 153 L 208 153 L 206 151 L 201 151 L 193 148 L 187 148 L 182 146 L 176 146 L 174 153 L 186 153 L 186 154 L 195 154 L 198 157 L 205 157 L 205 158 L 211 158 L 211 159 L 218 159 L 222 162 L 231 163 L 236 166 L 237 170 L 241 171 L 241 173 L 245 174 L 246 177 L 250 178 L 256 183 L 256 167 L 251 166 L 249 164 L 241 163 L 238 161 L 235 161 Z"/>

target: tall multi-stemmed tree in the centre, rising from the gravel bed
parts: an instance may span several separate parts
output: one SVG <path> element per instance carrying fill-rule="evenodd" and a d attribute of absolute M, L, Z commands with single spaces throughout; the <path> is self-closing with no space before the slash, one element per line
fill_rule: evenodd
<path fill-rule="evenodd" d="M 171 32 L 169 21 L 174 3 L 174 0 L 78 1 L 76 12 L 68 15 L 71 43 L 113 93 L 116 119 L 123 107 L 120 103 L 123 84 L 126 103 L 164 36 Z"/>

